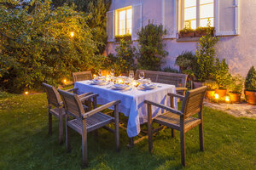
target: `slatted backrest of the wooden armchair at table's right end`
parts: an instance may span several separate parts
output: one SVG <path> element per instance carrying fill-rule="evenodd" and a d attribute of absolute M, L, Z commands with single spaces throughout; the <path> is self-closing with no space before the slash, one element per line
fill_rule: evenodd
<path fill-rule="evenodd" d="M 184 117 L 193 116 L 201 111 L 206 91 L 207 86 L 203 86 L 186 92 L 181 109 Z"/>

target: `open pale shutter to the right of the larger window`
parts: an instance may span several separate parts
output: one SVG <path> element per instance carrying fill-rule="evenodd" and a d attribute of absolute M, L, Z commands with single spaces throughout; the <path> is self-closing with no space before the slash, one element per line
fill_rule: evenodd
<path fill-rule="evenodd" d="M 216 36 L 238 35 L 239 0 L 215 0 Z"/>

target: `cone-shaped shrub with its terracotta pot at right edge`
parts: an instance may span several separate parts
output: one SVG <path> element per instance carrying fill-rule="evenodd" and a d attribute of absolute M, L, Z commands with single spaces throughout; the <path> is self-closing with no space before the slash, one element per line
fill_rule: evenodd
<path fill-rule="evenodd" d="M 256 71 L 254 66 L 248 71 L 244 86 L 247 103 L 256 105 Z"/>

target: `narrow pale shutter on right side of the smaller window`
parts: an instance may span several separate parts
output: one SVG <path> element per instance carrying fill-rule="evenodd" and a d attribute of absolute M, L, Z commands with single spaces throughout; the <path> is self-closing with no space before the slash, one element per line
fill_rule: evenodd
<path fill-rule="evenodd" d="M 143 4 L 139 3 L 132 6 L 132 31 L 131 40 L 137 40 L 137 31 L 143 27 Z"/>

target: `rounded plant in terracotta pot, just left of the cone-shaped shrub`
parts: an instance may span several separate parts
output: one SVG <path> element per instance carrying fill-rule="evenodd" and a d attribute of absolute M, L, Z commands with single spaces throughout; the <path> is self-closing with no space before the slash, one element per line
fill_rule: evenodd
<path fill-rule="evenodd" d="M 243 78 L 240 75 L 232 77 L 229 85 L 229 95 L 231 103 L 240 103 Z"/>

